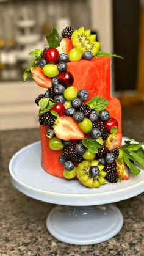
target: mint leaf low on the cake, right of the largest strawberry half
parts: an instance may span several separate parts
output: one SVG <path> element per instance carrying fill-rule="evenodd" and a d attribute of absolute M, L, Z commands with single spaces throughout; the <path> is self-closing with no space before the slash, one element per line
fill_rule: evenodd
<path fill-rule="evenodd" d="M 98 148 L 103 148 L 103 145 L 99 144 L 95 139 L 87 139 L 86 137 L 82 139 L 82 144 L 93 154 L 98 153 Z"/>

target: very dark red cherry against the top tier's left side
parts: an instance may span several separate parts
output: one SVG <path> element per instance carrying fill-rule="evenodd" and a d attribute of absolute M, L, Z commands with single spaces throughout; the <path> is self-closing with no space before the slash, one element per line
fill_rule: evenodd
<path fill-rule="evenodd" d="M 57 77 L 59 78 L 59 84 L 63 84 L 65 87 L 71 86 L 74 82 L 73 75 L 68 71 L 60 72 Z"/>

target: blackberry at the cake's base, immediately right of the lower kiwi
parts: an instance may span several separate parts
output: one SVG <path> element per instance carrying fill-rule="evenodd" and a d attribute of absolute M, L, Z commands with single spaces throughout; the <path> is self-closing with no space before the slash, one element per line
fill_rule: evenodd
<path fill-rule="evenodd" d="M 117 166 L 115 163 L 107 164 L 104 169 L 107 172 L 106 179 L 110 183 L 117 183 L 118 175 L 117 175 Z"/>

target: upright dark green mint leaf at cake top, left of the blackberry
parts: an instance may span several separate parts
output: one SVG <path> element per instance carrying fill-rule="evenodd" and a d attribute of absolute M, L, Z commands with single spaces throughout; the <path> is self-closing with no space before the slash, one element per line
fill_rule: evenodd
<path fill-rule="evenodd" d="M 59 34 L 57 33 L 57 29 L 55 27 L 52 27 L 51 34 L 45 35 L 45 38 L 48 42 L 49 47 L 57 48 L 58 46 L 60 46 Z"/>

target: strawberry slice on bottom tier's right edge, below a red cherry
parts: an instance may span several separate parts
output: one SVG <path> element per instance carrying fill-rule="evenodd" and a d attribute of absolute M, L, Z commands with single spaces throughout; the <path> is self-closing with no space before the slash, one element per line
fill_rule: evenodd
<path fill-rule="evenodd" d="M 107 137 L 107 141 L 104 143 L 108 150 L 112 150 L 113 148 L 120 148 L 122 141 L 122 133 L 117 131 L 115 134 L 109 134 Z"/>

